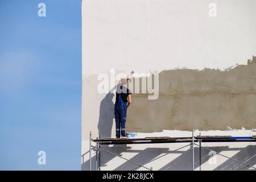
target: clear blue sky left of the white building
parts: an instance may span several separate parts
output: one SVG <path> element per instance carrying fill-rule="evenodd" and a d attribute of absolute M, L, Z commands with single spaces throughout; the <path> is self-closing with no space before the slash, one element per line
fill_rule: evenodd
<path fill-rule="evenodd" d="M 0 169 L 80 170 L 81 0 L 1 0 L 0 23 Z"/>

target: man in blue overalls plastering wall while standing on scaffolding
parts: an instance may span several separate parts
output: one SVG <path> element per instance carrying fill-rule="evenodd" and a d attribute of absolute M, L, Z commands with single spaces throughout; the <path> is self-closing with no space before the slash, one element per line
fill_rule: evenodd
<path fill-rule="evenodd" d="M 126 110 L 131 104 L 131 91 L 125 86 L 128 80 L 129 78 L 123 78 L 117 85 L 115 97 L 115 137 L 117 138 L 120 138 L 121 135 L 122 138 L 126 138 Z"/>

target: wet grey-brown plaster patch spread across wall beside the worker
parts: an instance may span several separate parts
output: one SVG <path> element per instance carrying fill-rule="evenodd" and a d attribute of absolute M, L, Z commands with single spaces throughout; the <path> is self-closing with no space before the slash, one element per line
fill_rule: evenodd
<path fill-rule="evenodd" d="M 133 94 L 127 130 L 226 130 L 256 128 L 256 57 L 248 65 L 176 69 L 159 73 L 159 97 Z"/>

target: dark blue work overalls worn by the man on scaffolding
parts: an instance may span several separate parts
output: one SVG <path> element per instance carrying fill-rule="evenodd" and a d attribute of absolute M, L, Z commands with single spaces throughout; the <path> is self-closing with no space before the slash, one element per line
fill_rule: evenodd
<path fill-rule="evenodd" d="M 120 138 L 120 130 L 122 137 L 126 137 L 125 122 L 126 122 L 126 102 L 122 100 L 121 94 L 118 95 L 118 100 L 115 101 L 115 137 Z"/>

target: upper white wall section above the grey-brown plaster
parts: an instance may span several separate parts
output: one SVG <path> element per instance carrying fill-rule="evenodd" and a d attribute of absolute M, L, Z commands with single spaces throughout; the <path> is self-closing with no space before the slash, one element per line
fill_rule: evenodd
<path fill-rule="evenodd" d="M 209 4 L 217 16 L 210 17 Z M 255 52 L 254 0 L 82 1 L 82 73 L 228 68 Z"/>

